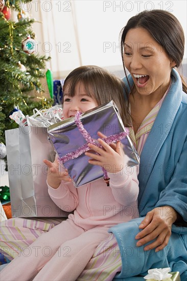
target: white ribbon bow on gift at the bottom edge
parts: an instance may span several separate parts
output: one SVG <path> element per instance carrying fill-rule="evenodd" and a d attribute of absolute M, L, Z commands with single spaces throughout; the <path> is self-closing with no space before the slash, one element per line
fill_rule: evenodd
<path fill-rule="evenodd" d="M 172 277 L 172 274 L 168 273 L 170 271 L 170 267 L 149 269 L 144 279 L 171 280 L 170 277 Z"/>

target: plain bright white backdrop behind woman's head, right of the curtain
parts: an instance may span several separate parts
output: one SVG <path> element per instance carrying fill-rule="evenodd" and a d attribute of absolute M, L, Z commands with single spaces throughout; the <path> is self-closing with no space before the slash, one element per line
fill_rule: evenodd
<path fill-rule="evenodd" d="M 118 65 L 119 33 L 128 19 L 143 10 L 172 12 L 186 34 L 186 1 L 75 1 L 83 64 Z M 83 12 L 84 11 L 84 12 Z M 185 46 L 186 58 L 186 46 Z"/>

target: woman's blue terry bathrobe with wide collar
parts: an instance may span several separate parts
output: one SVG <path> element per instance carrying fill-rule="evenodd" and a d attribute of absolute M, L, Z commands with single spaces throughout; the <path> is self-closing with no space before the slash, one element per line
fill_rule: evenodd
<path fill-rule="evenodd" d="M 172 84 L 141 153 L 138 206 L 141 218 L 109 229 L 118 241 L 122 271 L 114 280 L 142 280 L 150 268 L 171 267 L 187 280 L 187 227 L 172 226 L 168 245 L 161 251 L 136 247 L 138 225 L 155 207 L 172 206 L 187 221 L 187 95 L 175 69 Z M 127 84 L 127 81 L 124 79 Z M 129 76 L 132 85 L 132 77 Z M 161 212 L 161 211 L 160 211 Z M 169 211 L 168 211 L 169 215 Z M 150 243 L 148 243 L 150 244 Z M 143 279 L 145 280 L 145 279 Z"/>

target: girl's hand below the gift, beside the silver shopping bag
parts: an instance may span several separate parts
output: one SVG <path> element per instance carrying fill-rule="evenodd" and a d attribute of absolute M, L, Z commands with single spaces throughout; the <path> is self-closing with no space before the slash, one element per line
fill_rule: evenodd
<path fill-rule="evenodd" d="M 48 177 L 47 181 L 48 184 L 53 188 L 57 189 L 60 185 L 61 180 L 64 181 L 72 181 L 71 178 L 69 178 L 67 169 L 60 171 L 60 166 L 58 163 L 57 158 L 55 159 L 54 162 L 51 162 L 49 160 L 44 159 L 43 162 L 45 163 L 46 166 L 48 166 Z"/>

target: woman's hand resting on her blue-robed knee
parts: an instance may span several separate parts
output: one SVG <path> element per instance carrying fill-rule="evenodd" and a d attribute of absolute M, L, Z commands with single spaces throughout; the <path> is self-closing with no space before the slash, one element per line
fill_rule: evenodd
<path fill-rule="evenodd" d="M 177 219 L 177 212 L 171 206 L 161 206 L 154 208 L 147 213 L 145 219 L 139 225 L 143 229 L 139 232 L 135 239 L 139 241 L 136 246 L 142 246 L 156 239 L 151 244 L 147 245 L 144 250 L 148 251 L 155 249 L 155 252 L 162 250 L 168 245 L 171 236 L 172 224 Z"/>

